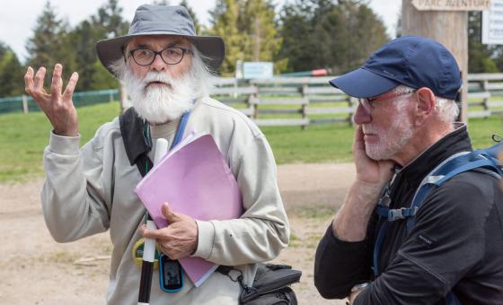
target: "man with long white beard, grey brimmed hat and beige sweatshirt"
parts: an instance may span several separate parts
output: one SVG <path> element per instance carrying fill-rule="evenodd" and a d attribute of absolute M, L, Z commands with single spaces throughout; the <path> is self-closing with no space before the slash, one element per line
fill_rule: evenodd
<path fill-rule="evenodd" d="M 63 68 L 57 64 L 49 93 L 43 89 L 44 67 L 36 74 L 29 67 L 25 75 L 26 92 L 53 126 L 44 151 L 47 179 L 41 196 L 51 235 L 68 242 L 110 230 L 109 304 L 137 303 L 136 247 L 142 236 L 157 240 L 173 259 L 202 257 L 235 269 L 231 276 L 213 273 L 199 287 L 183 276 L 181 291 L 172 293 L 159 287 L 155 272 L 151 304 L 238 303 L 237 276 L 243 274 L 244 283 L 251 285 L 255 264 L 277 257 L 287 246 L 289 231 L 265 136 L 242 113 L 207 96 L 211 72 L 224 59 L 223 40 L 197 36 L 184 7 L 142 5 L 128 35 L 101 40 L 97 53 L 124 82 L 133 107 L 101 126 L 80 150 L 72 102 L 78 74 L 61 92 Z M 240 187 L 243 216 L 205 222 L 164 205 L 164 216 L 176 225 L 147 230 L 145 207 L 133 189 L 153 165 L 155 140 L 172 144 L 192 130 L 207 131 L 215 139 Z"/>

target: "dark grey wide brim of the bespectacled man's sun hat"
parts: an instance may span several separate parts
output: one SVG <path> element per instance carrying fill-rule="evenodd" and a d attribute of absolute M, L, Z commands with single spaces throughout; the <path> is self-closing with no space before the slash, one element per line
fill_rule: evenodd
<path fill-rule="evenodd" d="M 182 36 L 186 39 L 189 39 L 190 42 L 192 42 L 194 46 L 198 48 L 199 52 L 203 55 L 203 60 L 207 63 L 207 67 L 213 72 L 215 72 L 216 69 L 218 69 L 218 67 L 222 65 L 222 62 L 224 61 L 225 43 L 224 39 L 221 39 L 218 36 L 188 36 L 167 32 L 148 32 L 98 41 L 96 43 L 96 54 L 98 58 L 100 58 L 101 64 L 104 65 L 111 74 L 117 76 L 110 69 L 110 65 L 123 57 L 122 48 L 126 45 L 129 39 L 132 39 L 136 36 L 146 35 L 173 35 Z"/>

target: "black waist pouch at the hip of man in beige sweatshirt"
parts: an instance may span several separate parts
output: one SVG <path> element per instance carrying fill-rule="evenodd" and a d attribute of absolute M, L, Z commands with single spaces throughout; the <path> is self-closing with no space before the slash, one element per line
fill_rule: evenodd
<path fill-rule="evenodd" d="M 257 264 L 257 273 L 252 287 L 243 283 L 243 274 L 236 280 L 229 275 L 234 269 L 230 266 L 220 266 L 217 271 L 225 274 L 241 285 L 239 298 L 241 305 L 297 305 L 296 293 L 289 287 L 298 283 L 302 272 L 292 269 L 292 266 L 275 264 Z"/>

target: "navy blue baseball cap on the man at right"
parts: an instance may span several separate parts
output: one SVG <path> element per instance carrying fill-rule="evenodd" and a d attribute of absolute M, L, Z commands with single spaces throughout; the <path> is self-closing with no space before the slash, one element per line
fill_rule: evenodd
<path fill-rule="evenodd" d="M 414 89 L 428 87 L 436 96 L 454 100 L 462 81 L 446 47 L 432 39 L 403 36 L 375 51 L 361 68 L 330 83 L 356 98 L 375 97 L 404 84 Z"/>

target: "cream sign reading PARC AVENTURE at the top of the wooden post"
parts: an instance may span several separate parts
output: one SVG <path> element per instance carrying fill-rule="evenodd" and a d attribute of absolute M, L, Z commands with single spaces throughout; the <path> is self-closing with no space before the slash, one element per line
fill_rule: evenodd
<path fill-rule="evenodd" d="M 491 0 L 412 0 L 418 11 L 483 11 Z"/>

